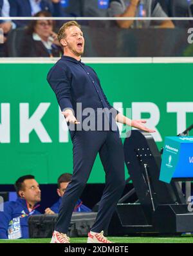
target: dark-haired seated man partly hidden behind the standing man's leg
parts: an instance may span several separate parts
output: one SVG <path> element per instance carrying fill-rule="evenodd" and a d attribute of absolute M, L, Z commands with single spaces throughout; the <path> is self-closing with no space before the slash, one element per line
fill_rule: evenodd
<path fill-rule="evenodd" d="M 64 195 L 66 188 L 71 182 L 71 174 L 70 173 L 63 173 L 62 175 L 59 176 L 58 178 L 58 188 L 57 188 L 57 193 L 59 195 L 59 200 L 53 204 L 50 208 L 45 209 L 46 214 L 55 214 L 59 213 L 59 208 L 60 208 L 60 203 L 62 201 L 62 196 Z M 73 210 L 74 212 L 89 212 L 91 209 L 87 208 L 82 204 L 82 200 L 78 199 L 77 204 Z"/>

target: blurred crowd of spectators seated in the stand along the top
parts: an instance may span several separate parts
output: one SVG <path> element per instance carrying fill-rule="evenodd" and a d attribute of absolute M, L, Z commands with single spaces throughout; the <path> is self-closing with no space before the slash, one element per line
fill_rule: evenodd
<path fill-rule="evenodd" d="M 62 54 L 57 41 L 57 28 L 64 17 L 163 17 L 162 20 L 80 21 L 95 27 L 118 28 L 174 28 L 187 27 L 185 21 L 173 21 L 165 17 L 192 17 L 193 0 L 0 0 L 0 28 L 4 43 L 0 44 L 0 56 L 57 57 Z M 61 21 L 26 21 L 10 17 L 61 17 Z M 8 19 L 9 17 L 9 19 Z M 9 52 L 6 41 L 16 30 L 19 48 Z M 11 40 L 14 33 L 11 34 Z M 1 39 L 1 38 L 0 38 Z M 0 40 L 2 41 L 2 40 Z"/>

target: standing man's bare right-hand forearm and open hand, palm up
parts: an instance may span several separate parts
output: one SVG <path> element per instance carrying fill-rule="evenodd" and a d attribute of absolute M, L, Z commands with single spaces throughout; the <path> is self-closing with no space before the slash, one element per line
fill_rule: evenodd
<path fill-rule="evenodd" d="M 145 125 L 143 125 L 143 123 L 146 123 L 145 120 L 131 120 L 129 118 L 127 118 L 126 116 L 124 116 L 121 113 L 118 113 L 115 117 L 115 121 L 118 123 L 124 123 L 125 125 L 129 125 L 131 127 L 134 127 L 136 129 L 140 129 L 142 131 L 145 131 L 147 133 L 155 133 L 156 131 L 149 129 L 147 127 L 145 127 Z"/>

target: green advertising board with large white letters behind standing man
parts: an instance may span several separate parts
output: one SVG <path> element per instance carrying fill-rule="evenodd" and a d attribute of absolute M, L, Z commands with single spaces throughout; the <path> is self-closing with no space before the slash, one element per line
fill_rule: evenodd
<path fill-rule="evenodd" d="M 158 147 L 192 124 L 193 63 L 90 63 L 108 100 L 134 119 L 156 128 Z M 72 144 L 61 129 L 55 94 L 46 81 L 53 63 L 0 63 L 0 184 L 12 184 L 26 174 L 41 184 L 56 183 L 72 172 Z M 63 123 L 64 125 L 64 123 Z M 122 127 L 120 126 L 120 133 Z M 123 138 L 124 141 L 124 138 Z M 125 168 L 127 175 L 127 169 Z M 97 157 L 89 183 L 103 183 Z"/>

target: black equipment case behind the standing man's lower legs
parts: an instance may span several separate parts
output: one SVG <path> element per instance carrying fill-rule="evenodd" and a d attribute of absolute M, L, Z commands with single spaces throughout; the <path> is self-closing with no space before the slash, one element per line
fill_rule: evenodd
<path fill-rule="evenodd" d="M 69 225 L 69 237 L 86 237 L 97 213 L 73 213 Z M 28 219 L 30 238 L 50 238 L 55 228 L 57 214 L 31 215 Z"/>

